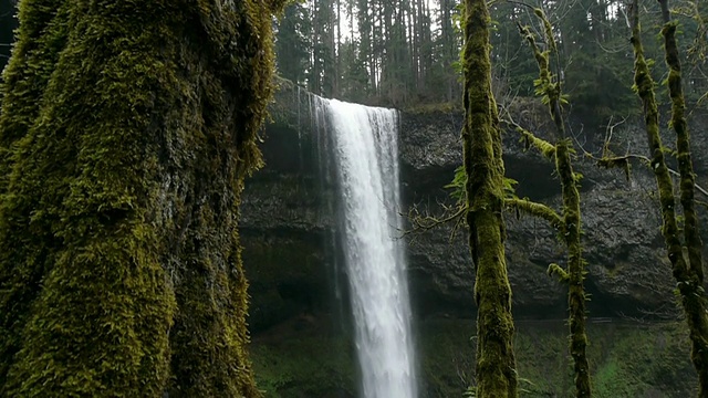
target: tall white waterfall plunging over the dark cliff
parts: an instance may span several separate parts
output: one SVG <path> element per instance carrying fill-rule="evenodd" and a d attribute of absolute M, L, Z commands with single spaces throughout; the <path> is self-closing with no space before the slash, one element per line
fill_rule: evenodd
<path fill-rule="evenodd" d="M 323 101 L 333 130 L 364 398 L 416 398 L 396 111 Z"/>

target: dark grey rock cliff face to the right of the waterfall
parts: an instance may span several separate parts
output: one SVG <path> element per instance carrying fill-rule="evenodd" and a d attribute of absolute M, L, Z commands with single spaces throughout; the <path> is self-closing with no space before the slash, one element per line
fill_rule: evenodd
<path fill-rule="evenodd" d="M 706 170 L 708 160 L 701 150 L 707 137 L 701 134 L 700 119 L 695 117 L 691 123 L 699 184 L 706 180 L 700 176 L 705 176 L 701 170 Z M 400 156 L 408 206 L 427 207 L 431 213 L 440 213 L 439 203 L 450 205 L 448 192 L 441 187 L 451 180 L 454 169 L 461 164 L 458 138 L 461 121 L 461 115 L 403 115 Z M 528 122 L 527 126 L 539 136 L 554 139 L 546 133 L 550 126 Z M 646 144 L 641 124 L 617 128 L 615 147 L 621 149 L 616 151 L 644 155 Z M 519 181 L 517 195 L 560 209 L 560 181 L 554 177 L 553 166 L 533 150 L 525 151 L 516 132 L 504 132 L 503 139 L 507 176 Z M 668 147 L 673 146 L 671 139 L 670 134 L 666 134 Z M 598 153 L 598 145 L 581 144 L 585 150 Z M 583 150 L 577 148 L 577 151 L 581 156 L 576 157 L 574 167 L 584 176 L 581 205 L 591 313 L 595 316 L 670 313 L 675 308 L 675 282 L 660 235 L 653 175 L 636 164 L 627 181 L 622 170 L 597 168 L 582 156 Z M 506 220 L 507 264 L 514 311 L 521 316 L 563 316 L 565 290 L 545 274 L 549 263 L 565 262 L 556 232 L 544 221 L 525 216 L 510 212 Z M 473 269 L 466 245 L 467 231 L 460 228 L 450 240 L 451 228 L 426 231 L 413 239 L 412 284 L 414 292 L 420 292 L 413 296 L 417 297 L 419 308 L 461 311 L 460 315 L 469 316 L 473 307 Z"/>

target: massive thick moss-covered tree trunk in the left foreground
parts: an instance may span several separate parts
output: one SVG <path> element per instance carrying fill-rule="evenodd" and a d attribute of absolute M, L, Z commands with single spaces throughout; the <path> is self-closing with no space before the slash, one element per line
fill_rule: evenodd
<path fill-rule="evenodd" d="M 279 6 L 20 3 L 0 115 L 1 396 L 259 396 L 237 224 Z"/>

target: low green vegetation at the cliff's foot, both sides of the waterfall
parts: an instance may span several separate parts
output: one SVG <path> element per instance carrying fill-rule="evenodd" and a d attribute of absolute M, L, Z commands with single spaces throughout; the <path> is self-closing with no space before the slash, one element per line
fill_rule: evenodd
<path fill-rule="evenodd" d="M 420 325 L 420 397 L 460 397 L 475 375 L 475 323 L 430 321 Z M 615 320 L 591 323 L 593 395 L 675 397 L 694 394 L 696 376 L 688 359 L 688 336 L 681 324 L 637 324 Z M 575 387 L 568 336 L 561 322 L 518 322 L 514 348 L 519 362 L 519 396 L 568 397 Z M 356 375 L 351 341 L 308 329 L 278 331 L 254 341 L 256 378 L 267 398 L 355 396 Z"/>

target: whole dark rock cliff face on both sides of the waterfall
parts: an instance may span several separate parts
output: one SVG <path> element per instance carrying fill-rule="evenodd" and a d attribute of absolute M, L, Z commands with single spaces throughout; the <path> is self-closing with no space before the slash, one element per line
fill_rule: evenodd
<path fill-rule="evenodd" d="M 247 181 L 243 192 L 241 235 L 252 302 L 250 323 L 256 329 L 288 315 L 327 312 L 333 285 L 342 290 L 332 250 L 337 230 L 333 170 L 322 175 L 323 157 L 317 154 L 323 148 L 322 137 L 309 121 L 303 101 L 293 101 L 298 95 L 290 92 L 284 100 L 279 97 L 279 103 L 288 105 L 279 108 L 275 123 L 266 129 L 262 149 L 267 166 Z M 553 139 L 543 133 L 550 126 L 521 118 L 517 122 L 530 122 L 529 127 L 538 128 L 540 136 Z M 461 114 L 454 113 L 402 114 L 402 212 L 415 205 L 441 214 L 444 206 L 451 205 L 442 187 L 461 164 Z M 691 132 L 698 182 L 705 184 L 708 153 L 700 148 L 708 146 L 708 139 L 699 129 L 700 123 L 695 117 Z M 646 153 L 641 124 L 625 124 L 614 134 L 621 143 L 617 153 L 627 147 L 632 153 Z M 670 135 L 665 139 L 671 139 Z M 583 145 L 586 150 L 594 149 L 591 144 Z M 504 133 L 504 163 L 508 177 L 519 181 L 520 197 L 560 208 L 560 182 L 553 165 L 532 150 L 524 151 L 513 130 Z M 591 314 L 674 311 L 675 283 L 660 237 L 653 175 L 637 164 L 627 181 L 622 170 L 600 169 L 583 156 L 577 156 L 575 169 L 584 176 L 581 200 Z M 549 263 L 565 262 L 556 232 L 530 217 L 507 213 L 506 220 L 507 264 L 517 316 L 565 316 L 565 289 L 545 273 Z M 467 229 L 464 224 L 455 233 L 452 229 L 450 223 L 405 237 L 412 300 L 420 316 L 475 316 L 475 270 Z"/>

